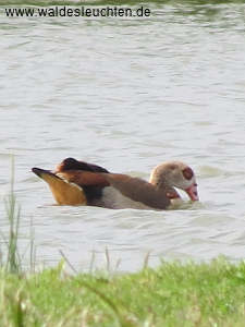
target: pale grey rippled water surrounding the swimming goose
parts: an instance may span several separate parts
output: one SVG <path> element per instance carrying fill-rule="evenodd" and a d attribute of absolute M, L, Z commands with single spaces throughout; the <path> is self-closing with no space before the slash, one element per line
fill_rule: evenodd
<path fill-rule="evenodd" d="M 21 244 L 87 269 L 245 255 L 244 4 L 149 4 L 152 16 L 7 19 L 0 7 L 0 227 L 15 156 Z M 59 207 L 30 173 L 65 157 L 148 179 L 180 159 L 200 203 L 175 210 Z M 93 258 L 94 257 L 94 258 Z"/>

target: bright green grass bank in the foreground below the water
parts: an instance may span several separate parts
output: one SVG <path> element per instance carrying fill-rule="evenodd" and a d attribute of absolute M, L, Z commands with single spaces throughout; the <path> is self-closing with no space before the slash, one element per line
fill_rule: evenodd
<path fill-rule="evenodd" d="M 162 263 L 137 274 L 0 272 L 0 326 L 244 326 L 245 263 Z"/>

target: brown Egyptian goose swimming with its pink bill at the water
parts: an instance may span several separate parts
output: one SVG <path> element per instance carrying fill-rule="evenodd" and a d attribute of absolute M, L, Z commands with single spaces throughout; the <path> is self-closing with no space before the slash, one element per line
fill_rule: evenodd
<path fill-rule="evenodd" d="M 181 161 L 157 166 L 149 182 L 73 158 L 64 159 L 54 171 L 33 168 L 33 172 L 49 184 L 60 205 L 161 210 L 180 197 L 175 187 L 198 201 L 195 174 Z"/>

